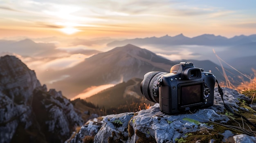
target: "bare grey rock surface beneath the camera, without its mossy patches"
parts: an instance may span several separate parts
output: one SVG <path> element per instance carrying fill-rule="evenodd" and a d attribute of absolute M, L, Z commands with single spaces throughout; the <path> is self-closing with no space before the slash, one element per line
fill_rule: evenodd
<path fill-rule="evenodd" d="M 224 92 L 225 103 L 232 109 L 238 110 L 241 99 L 248 100 L 245 95 L 239 94 L 236 90 L 222 88 Z M 94 137 L 95 143 L 123 142 L 135 143 L 137 141 L 152 141 L 157 143 L 173 143 L 177 139 L 186 139 L 191 132 L 202 132 L 214 130 L 214 125 L 209 122 L 227 123 L 229 117 L 225 115 L 225 107 L 218 93 L 218 88 L 214 91 L 213 106 L 205 109 L 192 111 L 193 113 L 181 113 L 176 115 L 167 115 L 159 110 L 159 104 L 156 103 L 150 109 L 141 110 L 133 113 L 122 113 L 107 115 L 103 118 L 103 125 Z M 221 113 L 221 114 L 220 114 Z M 90 134 L 86 130 L 86 134 Z M 76 142 L 80 143 L 83 130 L 76 133 Z M 236 135 L 229 130 L 224 133 L 218 133 L 223 136 L 222 142 L 232 141 L 235 143 L 255 142 L 255 136 Z M 207 136 L 207 134 L 205 135 Z M 143 140 L 146 139 L 146 140 Z M 195 141 L 195 142 L 200 142 Z M 216 139 L 209 139 L 210 143 L 216 142 Z"/>

